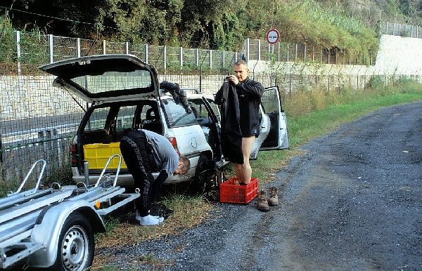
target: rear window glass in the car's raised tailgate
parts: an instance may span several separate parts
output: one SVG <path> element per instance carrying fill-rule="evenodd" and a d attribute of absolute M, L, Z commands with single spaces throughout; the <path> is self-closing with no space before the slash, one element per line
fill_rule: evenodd
<path fill-rule="evenodd" d="M 146 70 L 132 72 L 104 72 L 103 74 L 83 75 L 72 81 L 90 93 L 123 91 L 151 87 L 151 73 Z"/>

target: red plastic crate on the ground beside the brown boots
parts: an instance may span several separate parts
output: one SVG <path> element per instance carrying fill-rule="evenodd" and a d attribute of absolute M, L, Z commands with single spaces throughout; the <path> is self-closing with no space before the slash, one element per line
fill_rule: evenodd
<path fill-rule="evenodd" d="M 258 195 L 258 179 L 250 179 L 248 185 L 238 185 L 238 178 L 234 177 L 219 185 L 220 201 L 234 204 L 248 204 Z"/>

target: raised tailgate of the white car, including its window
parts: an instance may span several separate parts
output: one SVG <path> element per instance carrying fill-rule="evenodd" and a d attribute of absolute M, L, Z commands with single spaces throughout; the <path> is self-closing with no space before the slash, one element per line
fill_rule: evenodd
<path fill-rule="evenodd" d="M 55 75 L 53 85 L 75 93 L 88 103 L 157 97 L 155 67 L 135 55 L 91 55 L 39 67 Z"/>

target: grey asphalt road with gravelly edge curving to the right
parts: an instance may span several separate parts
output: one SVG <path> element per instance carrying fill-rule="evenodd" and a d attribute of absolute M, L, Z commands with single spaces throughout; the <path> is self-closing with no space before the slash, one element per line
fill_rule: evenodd
<path fill-rule="evenodd" d="M 422 103 L 388 107 L 312 140 L 267 213 L 218 203 L 181 236 L 98 253 L 139 270 L 422 270 L 421 116 Z"/>

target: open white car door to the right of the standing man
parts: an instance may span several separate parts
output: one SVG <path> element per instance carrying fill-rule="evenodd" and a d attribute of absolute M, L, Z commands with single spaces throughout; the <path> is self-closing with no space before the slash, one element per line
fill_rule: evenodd
<path fill-rule="evenodd" d="M 281 96 L 278 86 L 265 88 L 260 107 L 260 135 L 250 153 L 250 159 L 257 159 L 259 150 L 288 149 L 288 133 L 286 114 L 281 107 Z"/>

